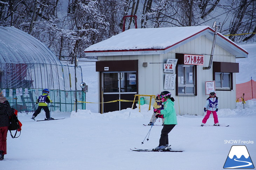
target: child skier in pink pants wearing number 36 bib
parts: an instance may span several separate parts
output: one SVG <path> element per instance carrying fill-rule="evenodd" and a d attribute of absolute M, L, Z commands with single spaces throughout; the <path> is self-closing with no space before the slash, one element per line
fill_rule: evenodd
<path fill-rule="evenodd" d="M 220 126 L 217 116 L 218 111 L 218 97 L 216 96 L 215 91 L 210 92 L 210 97 L 206 99 L 206 106 L 204 106 L 203 110 L 206 112 L 206 116 L 204 116 L 202 120 L 201 126 L 204 126 L 206 124 L 206 121 L 210 117 L 210 114 L 213 113 L 214 118 L 214 126 Z"/>

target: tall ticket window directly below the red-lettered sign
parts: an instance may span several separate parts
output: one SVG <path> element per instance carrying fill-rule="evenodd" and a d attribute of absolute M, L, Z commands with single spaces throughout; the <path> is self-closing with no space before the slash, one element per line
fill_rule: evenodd
<path fill-rule="evenodd" d="M 196 95 L 196 66 L 195 65 L 178 65 L 178 95 Z"/>

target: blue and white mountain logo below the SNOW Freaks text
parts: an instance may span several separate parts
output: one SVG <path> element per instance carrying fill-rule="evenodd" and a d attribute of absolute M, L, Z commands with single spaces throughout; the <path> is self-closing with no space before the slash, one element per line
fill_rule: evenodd
<path fill-rule="evenodd" d="M 229 151 L 227 160 L 223 168 L 244 168 L 253 169 L 254 165 L 251 161 L 249 152 L 244 145 L 233 145 Z"/>

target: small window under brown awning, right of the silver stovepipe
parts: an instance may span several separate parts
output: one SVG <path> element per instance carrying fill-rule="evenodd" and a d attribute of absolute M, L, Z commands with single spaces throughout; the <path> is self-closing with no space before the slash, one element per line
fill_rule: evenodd
<path fill-rule="evenodd" d="M 231 73 L 215 72 L 216 88 L 231 89 Z"/>

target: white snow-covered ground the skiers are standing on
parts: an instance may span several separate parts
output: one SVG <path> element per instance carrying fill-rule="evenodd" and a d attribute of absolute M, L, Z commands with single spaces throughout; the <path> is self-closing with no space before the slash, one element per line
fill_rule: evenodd
<path fill-rule="evenodd" d="M 253 68 L 256 77 L 256 44 L 249 46 L 248 59 L 244 65 Z M 243 45 L 247 49 L 247 45 Z M 94 62 L 80 62 L 83 80 L 88 84 L 86 100 L 97 102 L 97 73 Z M 248 76 L 240 67 L 239 82 Z M 254 79 L 255 80 L 255 79 Z M 152 107 L 151 107 L 152 108 Z M 203 109 L 203 108 L 202 108 Z M 135 152 L 130 148 L 154 148 L 159 144 L 162 126 L 151 128 L 149 140 L 146 135 L 152 109 L 148 105 L 138 109 L 100 114 L 97 104 L 86 104 L 86 110 L 78 112 L 52 112 L 53 118 L 63 120 L 40 121 L 30 119 L 33 113 L 19 113 L 23 124 L 21 136 L 12 139 L 8 132 L 7 155 L 0 161 L 1 170 L 217 170 L 223 169 L 230 148 L 245 145 L 252 162 L 256 162 L 256 100 L 247 101 L 245 109 L 237 103 L 237 109 L 220 109 L 219 122 L 213 125 L 211 116 L 207 125 L 201 127 L 203 116 L 177 116 L 178 125 L 169 133 L 172 149 L 182 153 Z M 42 111 L 36 120 L 44 119 Z M 161 122 L 157 120 L 158 125 Z M 225 125 L 230 125 L 225 127 Z M 144 140 L 145 139 L 145 140 Z M 144 144 L 142 145 L 141 142 Z M 236 142 L 237 143 L 232 143 Z M 231 142 L 231 143 L 228 143 Z M 254 164 L 255 166 L 256 164 Z"/>

